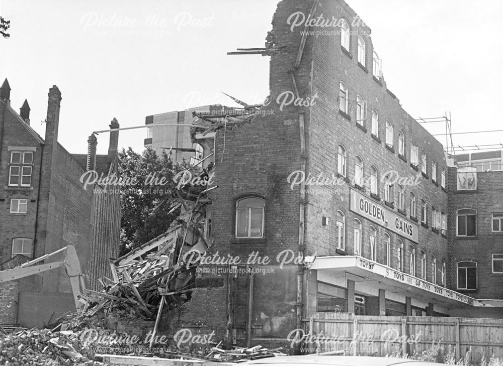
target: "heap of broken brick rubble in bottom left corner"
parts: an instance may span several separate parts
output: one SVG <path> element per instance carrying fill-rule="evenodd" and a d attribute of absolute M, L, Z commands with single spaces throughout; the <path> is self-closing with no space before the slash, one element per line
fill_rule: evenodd
<path fill-rule="evenodd" d="M 93 361 L 95 347 L 85 344 L 72 332 L 51 330 L 19 330 L 0 334 L 2 365 L 105 365 Z"/>

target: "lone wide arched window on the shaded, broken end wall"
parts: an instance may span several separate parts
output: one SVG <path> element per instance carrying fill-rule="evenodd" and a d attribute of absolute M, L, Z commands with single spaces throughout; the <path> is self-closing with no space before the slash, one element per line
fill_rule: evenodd
<path fill-rule="evenodd" d="M 265 201 L 259 197 L 244 197 L 236 201 L 236 237 L 264 236 Z"/>

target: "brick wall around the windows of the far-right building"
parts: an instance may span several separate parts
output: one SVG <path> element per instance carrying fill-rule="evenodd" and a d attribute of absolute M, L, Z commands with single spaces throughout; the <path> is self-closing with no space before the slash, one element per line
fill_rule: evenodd
<path fill-rule="evenodd" d="M 457 287 L 457 262 L 473 261 L 477 263 L 477 291 L 467 295 L 503 299 L 503 275 L 492 273 L 492 254 L 503 254 L 503 235 L 491 232 L 491 213 L 503 212 L 503 173 L 477 172 L 475 191 L 457 191 L 456 168 L 449 168 L 448 189 L 449 287 Z M 456 236 L 456 211 L 462 208 L 477 210 L 476 237 Z"/>

